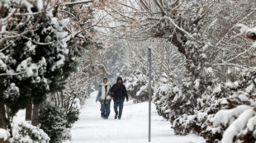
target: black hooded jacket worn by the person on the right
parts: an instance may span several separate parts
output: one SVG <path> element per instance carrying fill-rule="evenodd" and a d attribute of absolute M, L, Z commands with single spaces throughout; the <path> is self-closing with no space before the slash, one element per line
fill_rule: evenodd
<path fill-rule="evenodd" d="M 118 84 L 117 81 L 121 80 L 121 84 Z M 115 99 L 128 99 L 126 86 L 123 84 L 123 81 L 121 77 L 118 77 L 116 81 L 116 84 L 112 85 L 111 87 L 111 97 L 114 97 Z"/>

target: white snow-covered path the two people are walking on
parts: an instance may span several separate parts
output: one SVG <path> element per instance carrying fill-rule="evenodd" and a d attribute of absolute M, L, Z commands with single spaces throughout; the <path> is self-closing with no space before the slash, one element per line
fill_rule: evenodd
<path fill-rule="evenodd" d="M 78 122 L 71 129 L 73 143 L 146 143 L 148 142 L 148 103 L 125 102 L 121 120 L 114 119 L 113 102 L 110 118 L 100 118 L 100 104 L 95 103 L 97 91 L 81 109 Z M 202 143 L 196 135 L 174 136 L 170 123 L 159 117 L 152 104 L 153 143 Z"/>

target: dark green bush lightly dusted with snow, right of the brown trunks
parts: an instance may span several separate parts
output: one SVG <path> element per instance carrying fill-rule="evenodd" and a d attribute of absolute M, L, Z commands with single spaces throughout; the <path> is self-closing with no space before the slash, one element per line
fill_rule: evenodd
<path fill-rule="evenodd" d="M 70 127 L 70 122 L 68 122 L 63 108 L 56 108 L 50 105 L 40 108 L 39 123 L 40 128 L 50 136 L 50 143 L 60 143 L 71 139 L 71 133 L 68 128 Z"/>

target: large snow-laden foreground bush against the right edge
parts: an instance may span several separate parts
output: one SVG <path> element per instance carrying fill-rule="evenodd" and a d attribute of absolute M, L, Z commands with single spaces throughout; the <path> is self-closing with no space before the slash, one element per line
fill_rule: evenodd
<path fill-rule="evenodd" d="M 215 111 L 209 112 L 201 136 L 207 142 L 254 142 L 255 68 L 241 73 L 238 82 L 221 85 Z M 230 90 L 229 90 L 230 89 Z"/>

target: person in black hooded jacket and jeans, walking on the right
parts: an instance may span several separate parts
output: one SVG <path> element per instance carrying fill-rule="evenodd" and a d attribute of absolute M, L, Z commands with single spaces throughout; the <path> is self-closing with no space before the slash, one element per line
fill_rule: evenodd
<path fill-rule="evenodd" d="M 123 85 L 121 77 L 117 77 L 116 84 L 111 87 L 111 98 L 114 99 L 114 110 L 115 110 L 115 119 L 118 116 L 118 119 L 121 119 L 121 113 L 123 111 L 124 101 L 126 97 L 126 102 L 129 101 L 126 86 Z M 119 114 L 117 107 L 119 107 Z"/>

